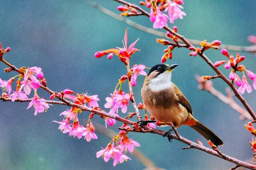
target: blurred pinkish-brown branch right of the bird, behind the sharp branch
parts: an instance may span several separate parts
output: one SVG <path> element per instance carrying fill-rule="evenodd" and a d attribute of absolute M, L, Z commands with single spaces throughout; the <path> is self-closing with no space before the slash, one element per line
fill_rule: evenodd
<path fill-rule="evenodd" d="M 217 97 L 220 101 L 230 105 L 230 107 L 232 107 L 232 109 L 234 109 L 235 111 L 237 111 L 238 113 L 241 114 L 241 119 L 249 119 L 252 120 L 252 117 L 250 116 L 250 114 L 243 109 L 242 107 L 240 107 L 240 105 L 238 105 L 236 103 L 236 101 L 234 101 L 234 99 L 232 98 L 233 94 L 231 91 L 227 90 L 228 96 L 225 96 L 224 94 L 222 94 L 220 91 L 216 90 L 213 86 L 212 86 L 212 81 L 206 81 L 204 79 L 202 79 L 202 77 L 200 76 L 196 76 L 196 80 L 198 81 L 198 83 L 200 84 L 200 89 L 201 90 L 206 90 L 209 93 L 211 93 L 212 95 L 214 95 L 215 97 Z M 230 90 L 230 89 L 229 89 Z"/>

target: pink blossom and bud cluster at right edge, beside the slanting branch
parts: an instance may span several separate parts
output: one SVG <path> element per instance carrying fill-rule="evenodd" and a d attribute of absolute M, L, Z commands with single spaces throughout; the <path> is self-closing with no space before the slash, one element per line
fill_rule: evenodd
<path fill-rule="evenodd" d="M 247 76 L 253 81 L 253 87 L 256 90 L 256 74 L 253 73 L 252 71 L 247 70 L 244 65 L 239 64 L 245 59 L 245 56 L 243 56 L 243 55 L 240 56 L 240 54 L 237 53 L 236 58 L 234 58 L 233 55 L 229 55 L 229 53 L 226 49 L 222 49 L 221 53 L 222 53 L 222 55 L 226 56 L 228 58 L 228 60 L 216 61 L 214 63 L 214 66 L 218 67 L 218 66 L 226 63 L 224 65 L 224 67 L 225 67 L 225 69 L 231 69 L 231 72 L 229 74 L 229 79 L 231 81 L 235 81 L 236 85 L 239 87 L 238 92 L 240 94 L 244 94 L 245 90 L 248 93 L 252 92 L 252 87 L 248 83 L 244 72 L 246 72 Z M 243 73 L 242 81 L 241 81 L 240 77 L 236 74 L 236 71 L 240 71 Z"/>

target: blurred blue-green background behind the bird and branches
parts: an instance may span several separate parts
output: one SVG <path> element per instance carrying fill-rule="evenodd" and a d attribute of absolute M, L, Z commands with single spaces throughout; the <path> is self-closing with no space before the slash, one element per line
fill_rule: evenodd
<path fill-rule="evenodd" d="M 94 2 L 116 13 L 117 2 L 94 0 Z M 130 0 L 130 2 L 139 1 Z M 38 66 L 42 68 L 48 87 L 53 91 L 66 88 L 78 93 L 98 94 L 100 107 L 104 109 L 105 98 L 114 91 L 120 76 L 126 74 L 126 67 L 114 56 L 97 59 L 96 51 L 121 47 L 125 28 L 128 30 L 128 43 L 140 38 L 131 65 L 142 63 L 147 67 L 160 63 L 163 45 L 156 43 L 157 36 L 136 30 L 93 8 L 87 0 L 0 0 L 2 20 L 0 42 L 2 47 L 12 50 L 4 57 L 16 67 Z M 256 4 L 254 1 L 184 1 L 183 20 L 175 20 L 178 33 L 196 40 L 221 40 L 224 44 L 251 45 L 247 36 L 256 34 Z M 129 18 L 152 28 L 149 18 L 144 16 Z M 169 23 L 169 26 L 174 25 Z M 163 31 L 164 30 L 160 30 Z M 229 51 L 236 55 L 236 51 Z M 252 135 L 244 128 L 248 121 L 240 121 L 240 114 L 222 103 L 206 91 L 198 89 L 195 75 L 216 75 L 200 58 L 189 57 L 188 49 L 175 49 L 173 59 L 168 64 L 179 64 L 172 74 L 172 81 L 190 101 L 194 116 L 211 128 L 224 141 L 221 152 L 248 160 L 252 158 L 249 141 Z M 213 61 L 226 59 L 220 50 L 205 52 Z M 246 56 L 243 64 L 256 72 L 254 53 L 242 52 Z M 15 73 L 4 73 L 6 66 L 0 64 L 1 79 L 9 79 Z M 229 70 L 221 71 L 228 76 Z M 241 77 L 241 75 L 240 75 Z M 140 89 L 144 81 L 138 77 L 134 87 L 136 102 L 142 102 Z M 249 81 L 249 80 L 248 80 Z M 214 87 L 225 93 L 226 84 L 214 79 Z M 251 81 L 249 81 L 251 83 Z M 123 87 L 128 91 L 127 86 Z M 40 97 L 49 99 L 45 91 L 39 90 Z M 256 111 L 256 91 L 243 96 Z M 31 96 L 32 97 L 32 96 Z M 239 103 L 240 104 L 240 103 Z M 145 166 L 131 154 L 132 160 L 113 167 L 113 161 L 105 163 L 96 158 L 96 152 L 106 147 L 110 138 L 99 132 L 98 140 L 86 140 L 69 137 L 58 130 L 60 113 L 67 107 L 54 105 L 47 113 L 34 116 L 34 109 L 26 110 L 28 103 L 0 101 L 0 169 L 144 169 Z M 106 109 L 108 111 L 108 109 Z M 128 111 L 134 109 L 129 107 Z M 89 113 L 80 115 L 80 123 L 86 123 Z M 127 114 L 120 113 L 122 117 Z M 143 115 L 143 114 L 142 114 Z M 133 119 L 134 121 L 136 119 Z M 95 116 L 93 122 L 104 124 L 104 120 Z M 114 125 L 113 130 L 122 124 Z M 169 127 L 161 128 L 169 130 Z M 208 146 L 206 140 L 189 127 L 180 127 L 179 133 L 192 140 L 197 138 Z M 234 164 L 224 161 L 200 150 L 182 150 L 186 144 L 174 140 L 168 142 L 156 134 L 129 133 L 138 141 L 138 148 L 154 164 L 163 169 L 229 169 Z"/>

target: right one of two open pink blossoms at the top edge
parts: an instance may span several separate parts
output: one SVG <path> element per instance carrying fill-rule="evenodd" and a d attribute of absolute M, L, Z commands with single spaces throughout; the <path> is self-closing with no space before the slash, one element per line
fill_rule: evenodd
<path fill-rule="evenodd" d="M 172 2 L 171 0 L 168 0 L 168 8 L 166 8 L 165 11 L 168 11 L 169 15 L 169 21 L 170 23 L 174 23 L 174 20 L 180 18 L 183 19 L 183 16 L 186 16 L 186 13 L 183 12 L 181 9 L 183 7 L 176 2 Z"/>

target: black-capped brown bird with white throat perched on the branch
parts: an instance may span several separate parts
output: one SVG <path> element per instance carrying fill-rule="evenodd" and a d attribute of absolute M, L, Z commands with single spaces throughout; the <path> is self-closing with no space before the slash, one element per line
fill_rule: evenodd
<path fill-rule="evenodd" d="M 172 70 L 177 64 L 158 64 L 152 67 L 146 76 L 141 95 L 143 103 L 152 120 L 174 127 L 188 125 L 216 146 L 222 145 L 222 140 L 205 125 L 193 117 L 193 111 L 180 89 L 171 82 Z M 144 124 L 145 125 L 145 124 Z M 168 138 L 170 137 L 168 131 Z M 169 139 L 170 140 L 170 139 Z"/>

